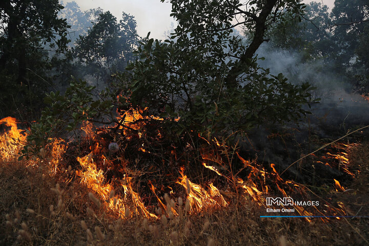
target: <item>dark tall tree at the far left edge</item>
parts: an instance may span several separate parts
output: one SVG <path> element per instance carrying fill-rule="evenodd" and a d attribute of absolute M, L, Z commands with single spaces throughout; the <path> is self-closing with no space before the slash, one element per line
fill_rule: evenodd
<path fill-rule="evenodd" d="M 18 108 L 32 108 L 48 87 L 41 78 L 51 69 L 48 51 L 65 52 L 68 43 L 67 22 L 57 17 L 60 9 L 57 0 L 1 1 L 1 108 L 8 109 L 2 110 L 3 116 L 13 114 L 10 101 Z"/>

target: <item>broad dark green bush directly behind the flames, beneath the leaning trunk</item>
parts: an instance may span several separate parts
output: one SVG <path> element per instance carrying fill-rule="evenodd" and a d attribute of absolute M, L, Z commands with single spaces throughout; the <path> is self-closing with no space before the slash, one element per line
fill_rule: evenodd
<path fill-rule="evenodd" d="M 203 49 L 185 45 L 149 36 L 141 43 L 135 51 L 138 59 L 127 68 L 132 74 L 120 76 L 122 94 L 130 95 L 124 107 L 148 108 L 148 114 L 175 122 L 179 132 L 217 134 L 308 113 L 302 105 L 313 101 L 309 84 L 296 86 L 282 74 L 273 76 L 255 58 L 230 86 L 226 79 L 236 66 L 232 59 L 207 59 Z M 176 117 L 178 122 L 173 121 Z"/>

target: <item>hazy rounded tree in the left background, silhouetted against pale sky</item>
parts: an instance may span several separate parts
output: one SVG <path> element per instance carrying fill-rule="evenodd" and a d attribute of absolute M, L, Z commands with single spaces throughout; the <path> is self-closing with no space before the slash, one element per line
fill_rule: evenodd
<path fill-rule="evenodd" d="M 80 35 L 76 40 L 75 54 L 89 73 L 105 79 L 111 73 L 124 71 L 137 42 L 134 17 L 123 12 L 118 23 L 107 11 L 98 15 L 86 36 Z"/>

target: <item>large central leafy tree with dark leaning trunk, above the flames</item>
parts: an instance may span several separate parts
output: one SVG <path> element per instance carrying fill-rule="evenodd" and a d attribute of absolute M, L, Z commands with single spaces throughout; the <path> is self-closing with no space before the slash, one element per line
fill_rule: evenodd
<path fill-rule="evenodd" d="M 163 1 L 162 1 L 163 2 Z M 297 119 L 305 114 L 309 85 L 294 86 L 282 74 L 260 68 L 254 56 L 265 30 L 286 13 L 299 14 L 299 1 L 172 0 L 178 26 L 170 39 L 149 36 L 128 67 L 126 93 L 133 107 L 167 119 L 179 116 L 180 130 L 246 130 L 265 122 Z M 285 10 L 285 11 L 282 11 Z M 233 24 L 236 15 L 243 21 Z M 243 25 L 247 44 L 232 35 Z"/>

